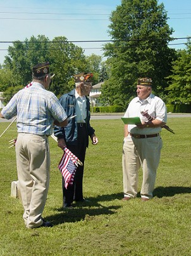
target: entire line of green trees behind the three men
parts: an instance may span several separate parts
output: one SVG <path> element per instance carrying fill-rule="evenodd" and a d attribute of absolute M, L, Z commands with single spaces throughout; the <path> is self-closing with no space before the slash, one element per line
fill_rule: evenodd
<path fill-rule="evenodd" d="M 52 41 L 44 35 L 15 41 L 0 69 L 0 91 L 6 101 L 32 79 L 32 67 L 49 60 L 55 74 L 51 84 L 59 98 L 73 88 L 73 74 L 93 72 L 93 85 L 104 81 L 103 105 L 128 105 L 136 95 L 138 77 L 152 77 L 153 91 L 166 104 L 191 103 L 191 42 L 184 50 L 169 48 L 174 39 L 164 4 L 157 0 L 121 0 L 111 13 L 111 43 L 103 47 L 106 61 L 85 56 L 64 36 Z"/>

